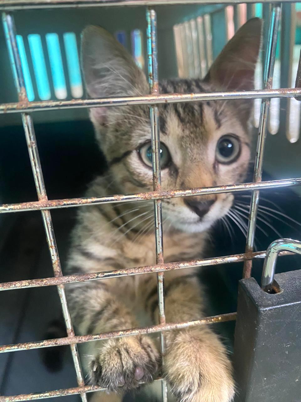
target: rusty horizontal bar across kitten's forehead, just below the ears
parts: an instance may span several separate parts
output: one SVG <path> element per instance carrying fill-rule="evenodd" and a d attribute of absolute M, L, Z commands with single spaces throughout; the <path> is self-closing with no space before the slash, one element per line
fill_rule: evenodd
<path fill-rule="evenodd" d="M 36 102 L 29 102 L 23 99 L 20 102 L 0 103 L 0 114 L 126 105 L 160 105 L 206 100 L 293 98 L 296 96 L 301 96 L 301 88 L 267 88 L 250 91 L 202 92 L 195 94 L 152 94 L 144 96 L 120 96 L 118 98 L 43 100 Z"/>

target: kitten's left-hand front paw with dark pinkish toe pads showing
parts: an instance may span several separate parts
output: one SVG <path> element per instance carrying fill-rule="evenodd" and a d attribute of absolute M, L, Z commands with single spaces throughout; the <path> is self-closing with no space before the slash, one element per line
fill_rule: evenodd
<path fill-rule="evenodd" d="M 110 391 L 136 388 L 152 380 L 159 353 L 146 336 L 111 339 L 98 349 L 90 363 L 90 380 Z"/>

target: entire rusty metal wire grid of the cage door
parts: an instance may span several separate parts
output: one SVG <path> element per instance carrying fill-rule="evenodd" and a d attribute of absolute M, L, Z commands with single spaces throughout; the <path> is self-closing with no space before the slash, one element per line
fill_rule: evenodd
<path fill-rule="evenodd" d="M 217 0 L 212 0 L 212 3 Z M 201 4 L 203 0 L 188 0 L 185 4 Z M 101 5 L 154 5 L 154 4 L 183 4 L 183 0 L 3 0 L 0 4 L 0 10 L 12 10 L 22 8 L 44 8 L 49 6 L 101 6 Z M 25 281 L 14 281 L 0 284 L 0 290 L 20 289 L 28 287 L 42 287 L 49 285 L 56 285 L 61 299 L 61 307 L 67 328 L 67 337 L 57 338 L 52 340 L 44 340 L 40 342 L 27 342 L 16 345 L 2 345 L 0 352 L 18 351 L 37 349 L 43 347 L 50 347 L 56 345 L 70 345 L 73 357 L 74 367 L 77 375 L 78 387 L 69 388 L 64 390 L 56 390 L 49 392 L 42 392 L 40 394 L 26 394 L 16 396 L 0 396 L 1 402 L 21 401 L 21 400 L 35 400 L 56 396 L 66 396 L 71 394 L 80 394 L 81 400 L 86 401 L 86 392 L 101 390 L 100 387 L 85 386 L 83 381 L 83 374 L 81 371 L 79 356 L 77 352 L 77 343 L 93 341 L 96 339 L 108 339 L 120 336 L 128 336 L 135 334 L 145 334 L 159 332 L 161 335 L 161 352 L 164 352 L 164 336 L 165 330 L 172 330 L 175 328 L 185 328 L 187 326 L 208 324 L 214 322 L 222 322 L 228 320 L 235 320 L 236 313 L 222 314 L 220 316 L 205 317 L 200 320 L 181 322 L 176 324 L 168 324 L 165 322 L 164 314 L 164 271 L 172 269 L 185 269 L 187 267 L 201 267 L 206 265 L 217 265 L 221 263 L 232 263 L 245 261 L 244 277 L 249 277 L 252 268 L 252 259 L 264 258 L 266 252 L 253 252 L 254 231 L 256 227 L 256 213 L 258 207 L 259 190 L 275 187 L 287 187 L 293 185 L 300 185 L 301 178 L 294 178 L 288 180 L 270 180 L 266 182 L 261 181 L 262 177 L 262 161 L 264 154 L 264 144 L 266 140 L 266 121 L 269 111 L 269 99 L 275 97 L 292 97 L 301 95 L 301 89 L 279 89 L 271 90 L 273 81 L 273 69 L 275 64 L 275 50 L 277 43 L 277 35 L 279 28 L 279 21 L 281 16 L 281 4 L 273 3 L 270 13 L 270 25 L 268 33 L 268 49 L 266 52 L 266 59 L 264 64 L 264 84 L 265 89 L 260 91 L 246 91 L 246 92 L 219 92 L 207 94 L 171 94 L 171 95 L 158 95 L 158 73 L 157 73 L 157 33 L 156 33 L 156 12 L 152 8 L 146 9 L 147 32 L 148 32 L 148 72 L 150 76 L 150 96 L 140 97 L 124 97 L 112 99 L 93 99 L 93 100 L 80 100 L 80 101 L 63 101 L 63 102 L 31 102 L 28 103 L 26 91 L 24 87 L 24 78 L 22 75 L 22 68 L 20 65 L 20 57 L 18 54 L 18 47 L 16 45 L 16 31 L 14 27 L 14 20 L 10 13 L 2 14 L 4 32 L 8 45 L 8 53 L 14 74 L 14 81 L 18 91 L 19 102 L 8 103 L 0 105 L 0 113 L 11 112 L 21 113 L 24 133 L 26 136 L 26 143 L 28 147 L 29 156 L 31 159 L 32 170 L 35 178 L 35 185 L 39 201 L 18 203 L 0 206 L 1 213 L 13 211 L 32 211 L 41 210 L 43 224 L 45 227 L 45 234 L 47 243 L 51 254 L 53 264 L 54 277 L 46 279 L 33 279 Z M 175 103 L 175 102 L 191 102 L 196 100 L 209 100 L 209 99 L 224 99 L 229 98 L 262 98 L 262 106 L 260 113 L 260 125 L 258 129 L 258 142 L 257 152 L 255 159 L 254 178 L 253 183 L 244 183 L 238 185 L 228 185 L 220 187 L 204 187 L 199 189 L 189 190 L 170 190 L 161 191 L 161 172 L 160 172 L 160 138 L 159 138 L 159 125 L 158 118 L 159 112 L 157 105 L 160 103 Z M 76 107 L 101 107 L 101 106 L 116 106 L 128 104 L 148 104 L 150 105 L 150 119 L 151 119 L 151 140 L 153 148 L 153 192 L 139 193 L 135 195 L 113 195 L 110 197 L 90 197 L 90 198 L 77 198 L 65 200 L 48 200 L 43 181 L 43 173 L 39 160 L 39 152 L 35 140 L 35 132 L 33 121 L 28 112 L 47 109 L 63 109 L 63 108 L 76 108 Z M 234 191 L 252 191 L 252 201 L 250 205 L 250 219 L 248 225 L 248 236 L 246 244 L 246 252 L 243 254 L 235 254 L 218 258 L 207 258 L 193 261 L 185 261 L 178 263 L 164 263 L 163 258 L 163 231 L 161 219 L 161 200 L 163 198 L 171 197 L 185 197 L 189 195 L 201 195 L 212 193 L 224 193 Z M 128 201 L 143 201 L 154 200 L 155 211 L 155 239 L 156 239 L 156 265 L 147 267 L 137 267 L 132 269 L 120 269 L 116 271 L 89 273 L 83 275 L 66 275 L 63 276 L 60 266 L 59 255 L 55 242 L 53 232 L 53 225 L 51 221 L 50 209 L 60 207 L 73 207 L 79 205 L 93 205 L 95 203 L 114 203 L 114 202 L 128 202 Z M 285 254 L 284 252 L 283 254 Z M 73 326 L 67 305 L 64 285 L 66 283 L 76 283 L 81 281 L 90 281 L 96 279 L 108 279 L 112 277 L 121 277 L 127 275 L 138 275 L 149 272 L 157 272 L 158 279 L 158 303 L 159 303 L 159 325 L 153 325 L 144 328 L 131 328 L 128 330 L 113 331 L 97 335 L 84 335 L 75 336 Z M 163 400 L 167 400 L 167 387 L 164 379 L 162 381 L 162 395 Z"/>

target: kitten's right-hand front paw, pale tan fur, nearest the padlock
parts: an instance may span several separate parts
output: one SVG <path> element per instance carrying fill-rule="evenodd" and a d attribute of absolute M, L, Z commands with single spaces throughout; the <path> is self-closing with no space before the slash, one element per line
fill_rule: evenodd
<path fill-rule="evenodd" d="M 218 337 L 209 330 L 174 335 L 165 373 L 179 402 L 230 402 L 234 397 L 231 363 Z"/>

